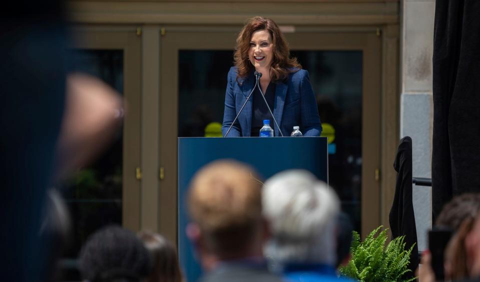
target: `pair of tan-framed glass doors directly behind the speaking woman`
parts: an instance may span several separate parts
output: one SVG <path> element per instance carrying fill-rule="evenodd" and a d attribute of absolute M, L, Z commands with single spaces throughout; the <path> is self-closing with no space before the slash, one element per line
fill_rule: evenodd
<path fill-rule="evenodd" d="M 175 175 L 177 136 L 219 132 L 226 76 L 240 28 L 167 28 L 163 37 L 161 163 L 170 165 Z M 329 184 L 355 229 L 368 234 L 380 224 L 375 170 L 380 165 L 381 39 L 374 32 L 301 30 L 286 37 L 291 54 L 309 71 L 317 95 L 323 135 L 329 137 Z M 175 184 L 165 183 L 171 188 Z"/>

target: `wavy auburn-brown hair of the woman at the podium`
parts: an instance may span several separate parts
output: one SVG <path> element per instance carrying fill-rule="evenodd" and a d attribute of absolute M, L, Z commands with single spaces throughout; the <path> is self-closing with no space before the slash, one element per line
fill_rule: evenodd
<path fill-rule="evenodd" d="M 255 68 L 248 58 L 248 50 L 252 34 L 257 30 L 266 30 L 272 37 L 273 58 L 270 66 L 272 81 L 283 80 L 288 77 L 290 72 L 302 68 L 297 58 L 290 58 L 288 42 L 275 21 L 267 17 L 255 16 L 245 21 L 245 25 L 237 37 L 237 45 L 233 55 L 237 67 L 237 79 L 247 77 Z"/>

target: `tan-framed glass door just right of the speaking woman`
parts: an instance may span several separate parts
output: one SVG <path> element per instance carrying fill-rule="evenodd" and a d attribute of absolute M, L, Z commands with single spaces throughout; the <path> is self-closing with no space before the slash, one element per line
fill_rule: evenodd
<path fill-rule="evenodd" d="M 322 135 L 329 138 L 329 184 L 365 236 L 381 219 L 381 37 L 301 29 L 285 35 L 317 95 Z"/>

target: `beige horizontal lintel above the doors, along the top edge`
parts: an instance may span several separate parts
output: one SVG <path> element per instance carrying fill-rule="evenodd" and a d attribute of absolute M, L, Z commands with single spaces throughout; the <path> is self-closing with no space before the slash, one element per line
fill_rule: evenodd
<path fill-rule="evenodd" d="M 70 1 L 72 18 L 84 23 L 239 24 L 252 10 L 279 24 L 395 24 L 398 1 Z"/>

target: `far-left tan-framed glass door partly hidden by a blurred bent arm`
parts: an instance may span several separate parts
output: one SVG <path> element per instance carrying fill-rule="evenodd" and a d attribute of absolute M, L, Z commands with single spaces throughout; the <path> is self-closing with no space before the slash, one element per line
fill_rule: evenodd
<path fill-rule="evenodd" d="M 72 70 L 96 76 L 116 89 L 127 104 L 122 128 L 97 159 L 61 187 L 72 222 L 72 240 L 62 259 L 61 277 L 79 280 L 76 258 L 82 244 L 108 224 L 140 228 L 140 47 L 132 31 L 80 28 L 73 33 Z"/>

